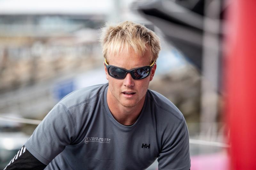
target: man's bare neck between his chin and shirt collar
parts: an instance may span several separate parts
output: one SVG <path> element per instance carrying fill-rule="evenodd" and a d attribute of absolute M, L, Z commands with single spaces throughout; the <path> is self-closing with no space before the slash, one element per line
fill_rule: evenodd
<path fill-rule="evenodd" d="M 140 112 L 143 108 L 143 104 L 145 101 L 145 96 L 140 101 L 140 103 L 137 104 L 136 106 L 124 107 L 118 101 L 116 101 L 113 97 L 110 97 L 110 93 L 111 92 L 108 91 L 108 94 L 107 94 L 108 108 L 111 114 L 113 115 L 113 117 L 116 119 L 116 121 L 126 126 L 134 124 L 138 119 L 138 117 L 140 116 Z"/>

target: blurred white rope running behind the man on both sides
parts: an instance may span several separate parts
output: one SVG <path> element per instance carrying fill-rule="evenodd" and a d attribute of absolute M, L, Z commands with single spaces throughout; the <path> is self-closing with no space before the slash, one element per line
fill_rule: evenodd
<path fill-rule="evenodd" d="M 24 124 L 40 124 L 41 120 L 35 120 L 35 119 L 25 119 L 25 118 L 18 118 L 18 117 L 5 117 L 0 116 L 1 120 L 4 121 L 11 121 L 11 122 L 18 122 L 18 123 L 24 123 Z M 207 146 L 217 146 L 217 147 L 230 147 L 228 144 L 221 143 L 221 142 L 213 142 L 213 141 L 206 141 L 206 140 L 197 140 L 197 139 L 189 139 L 190 144 L 196 144 L 196 145 L 207 145 Z"/>

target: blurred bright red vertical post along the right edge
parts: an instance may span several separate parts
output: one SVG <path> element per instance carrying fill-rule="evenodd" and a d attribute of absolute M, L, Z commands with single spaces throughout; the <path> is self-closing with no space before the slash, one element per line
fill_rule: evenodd
<path fill-rule="evenodd" d="M 225 94 L 230 169 L 256 169 L 256 0 L 230 0 L 225 37 Z"/>

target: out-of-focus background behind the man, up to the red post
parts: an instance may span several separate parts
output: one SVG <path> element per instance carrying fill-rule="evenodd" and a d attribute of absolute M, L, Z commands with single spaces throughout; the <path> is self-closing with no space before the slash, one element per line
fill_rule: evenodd
<path fill-rule="evenodd" d="M 99 29 L 124 20 L 144 24 L 161 39 L 149 88 L 183 113 L 191 170 L 230 169 L 230 128 L 223 111 L 223 53 L 229 49 L 223 47 L 223 38 L 231 5 L 218 0 L 0 0 L 0 169 L 62 97 L 107 82 Z M 254 105 L 255 97 L 252 101 Z M 150 169 L 157 169 L 157 161 Z"/>

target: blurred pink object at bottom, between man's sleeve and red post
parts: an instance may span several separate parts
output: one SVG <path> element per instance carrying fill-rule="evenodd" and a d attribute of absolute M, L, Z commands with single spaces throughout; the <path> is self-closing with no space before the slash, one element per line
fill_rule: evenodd
<path fill-rule="evenodd" d="M 190 170 L 230 170 L 228 154 L 223 151 L 206 155 L 191 156 Z"/>

